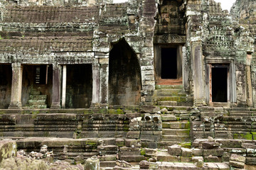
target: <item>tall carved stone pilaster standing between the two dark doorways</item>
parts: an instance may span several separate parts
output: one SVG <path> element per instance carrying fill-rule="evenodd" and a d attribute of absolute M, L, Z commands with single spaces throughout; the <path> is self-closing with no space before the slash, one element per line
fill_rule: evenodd
<path fill-rule="evenodd" d="M 201 42 L 192 42 L 194 105 L 206 105 L 203 81 L 203 55 Z"/>

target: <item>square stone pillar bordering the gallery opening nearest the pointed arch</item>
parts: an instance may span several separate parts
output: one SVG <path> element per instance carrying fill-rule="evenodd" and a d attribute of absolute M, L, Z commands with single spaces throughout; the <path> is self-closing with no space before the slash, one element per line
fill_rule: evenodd
<path fill-rule="evenodd" d="M 100 103 L 100 64 L 92 64 L 92 103 L 91 107 Z"/>

